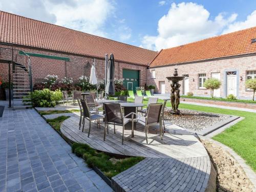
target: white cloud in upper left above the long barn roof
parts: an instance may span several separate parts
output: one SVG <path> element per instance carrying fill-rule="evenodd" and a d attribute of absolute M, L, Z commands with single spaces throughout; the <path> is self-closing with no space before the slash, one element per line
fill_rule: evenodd
<path fill-rule="evenodd" d="M 111 0 L 1 0 L 0 9 L 100 36 L 115 11 Z"/>

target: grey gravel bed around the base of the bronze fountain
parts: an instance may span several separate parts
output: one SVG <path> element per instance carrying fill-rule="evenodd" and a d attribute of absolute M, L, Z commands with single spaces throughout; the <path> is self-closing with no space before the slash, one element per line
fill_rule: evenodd
<path fill-rule="evenodd" d="M 220 121 L 226 120 L 230 115 L 222 115 L 216 113 L 206 113 L 193 110 L 180 110 L 180 115 L 170 113 L 170 109 L 164 112 L 164 120 L 172 124 L 184 127 L 186 129 L 200 131 L 214 125 Z"/>

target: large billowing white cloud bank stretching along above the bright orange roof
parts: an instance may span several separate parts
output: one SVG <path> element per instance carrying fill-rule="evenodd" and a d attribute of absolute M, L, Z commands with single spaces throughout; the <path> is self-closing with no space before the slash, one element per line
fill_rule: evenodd
<path fill-rule="evenodd" d="M 249 15 L 245 22 L 234 23 L 237 16 L 236 13 L 229 16 L 219 13 L 215 18 L 210 19 L 210 13 L 202 5 L 173 3 L 168 13 L 158 21 L 158 35 L 145 35 L 141 47 L 160 50 L 216 36 L 224 29 L 231 32 L 255 26 L 256 11 Z"/>

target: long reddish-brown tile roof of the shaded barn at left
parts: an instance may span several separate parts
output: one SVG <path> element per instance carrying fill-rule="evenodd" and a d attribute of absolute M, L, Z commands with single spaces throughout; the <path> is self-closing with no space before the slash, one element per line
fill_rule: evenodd
<path fill-rule="evenodd" d="M 148 65 L 157 52 L 0 11 L 0 42 Z"/>

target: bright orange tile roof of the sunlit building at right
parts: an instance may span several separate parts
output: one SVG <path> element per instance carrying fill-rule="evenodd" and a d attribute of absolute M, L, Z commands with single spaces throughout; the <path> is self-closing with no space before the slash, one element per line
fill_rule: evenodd
<path fill-rule="evenodd" d="M 150 67 L 256 53 L 256 27 L 163 49 Z"/>

